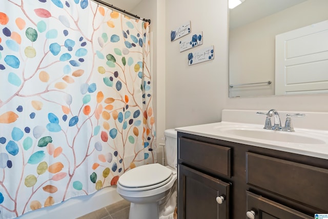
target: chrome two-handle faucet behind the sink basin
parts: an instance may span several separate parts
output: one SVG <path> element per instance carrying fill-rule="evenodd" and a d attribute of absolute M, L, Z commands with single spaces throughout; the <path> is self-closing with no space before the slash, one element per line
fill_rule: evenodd
<path fill-rule="evenodd" d="M 271 109 L 271 110 L 269 110 L 268 113 L 257 112 L 256 114 L 266 115 L 267 116 L 267 118 L 265 118 L 264 129 L 271 129 L 271 130 L 278 130 L 278 131 L 288 131 L 288 132 L 294 131 L 294 128 L 292 126 L 291 117 L 305 116 L 304 113 L 286 114 L 285 127 L 281 127 L 280 116 L 279 116 L 279 113 L 278 113 L 277 110 Z M 274 125 L 273 126 L 271 125 L 271 117 L 274 118 Z"/>

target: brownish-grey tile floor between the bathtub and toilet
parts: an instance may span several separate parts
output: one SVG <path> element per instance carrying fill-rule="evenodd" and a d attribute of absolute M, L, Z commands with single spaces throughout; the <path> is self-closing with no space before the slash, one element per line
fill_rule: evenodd
<path fill-rule="evenodd" d="M 128 219 L 130 203 L 126 200 L 100 208 L 77 219 Z"/>

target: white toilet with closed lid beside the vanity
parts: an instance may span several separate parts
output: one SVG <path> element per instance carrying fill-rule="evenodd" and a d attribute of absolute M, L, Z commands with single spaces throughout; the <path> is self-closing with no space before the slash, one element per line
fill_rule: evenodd
<path fill-rule="evenodd" d="M 164 131 L 167 165 L 135 167 L 117 181 L 117 193 L 129 201 L 129 219 L 173 219 L 177 198 L 177 132 Z"/>

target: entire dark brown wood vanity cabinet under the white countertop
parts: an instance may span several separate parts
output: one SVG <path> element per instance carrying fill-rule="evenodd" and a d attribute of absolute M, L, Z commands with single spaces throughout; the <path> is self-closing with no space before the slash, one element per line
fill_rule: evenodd
<path fill-rule="evenodd" d="M 178 175 L 179 219 L 328 213 L 328 161 L 322 158 L 178 132 Z"/>

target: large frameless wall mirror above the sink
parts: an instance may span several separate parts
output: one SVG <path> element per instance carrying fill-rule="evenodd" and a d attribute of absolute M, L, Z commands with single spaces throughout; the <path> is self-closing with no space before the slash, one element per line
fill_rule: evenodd
<path fill-rule="evenodd" d="M 328 1 L 241 2 L 229 9 L 229 97 L 327 93 Z"/>

